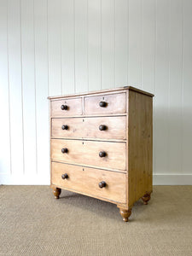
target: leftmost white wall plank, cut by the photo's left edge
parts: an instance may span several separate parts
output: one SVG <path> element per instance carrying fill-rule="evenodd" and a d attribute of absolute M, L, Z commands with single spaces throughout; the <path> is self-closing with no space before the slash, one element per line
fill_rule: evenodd
<path fill-rule="evenodd" d="M 0 125 L 0 173 L 10 170 L 10 137 L 9 137 L 9 70 L 8 70 L 8 35 L 7 35 L 7 2 L 0 0 L 0 109 L 3 125 Z M 1 184 L 1 178 L 0 178 Z"/>

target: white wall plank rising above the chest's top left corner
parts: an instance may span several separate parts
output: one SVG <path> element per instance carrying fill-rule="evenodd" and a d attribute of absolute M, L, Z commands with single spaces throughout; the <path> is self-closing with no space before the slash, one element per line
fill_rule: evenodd
<path fill-rule="evenodd" d="M 61 0 L 48 0 L 49 95 L 61 95 Z"/>

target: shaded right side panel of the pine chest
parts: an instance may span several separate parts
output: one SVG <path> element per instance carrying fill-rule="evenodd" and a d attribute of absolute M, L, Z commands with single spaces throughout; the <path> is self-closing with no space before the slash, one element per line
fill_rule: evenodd
<path fill-rule="evenodd" d="M 129 91 L 128 205 L 152 188 L 153 98 Z"/>

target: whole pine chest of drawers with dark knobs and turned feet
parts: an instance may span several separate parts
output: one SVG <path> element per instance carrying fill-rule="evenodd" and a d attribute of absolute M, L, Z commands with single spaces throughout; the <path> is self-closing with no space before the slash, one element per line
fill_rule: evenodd
<path fill-rule="evenodd" d="M 152 192 L 153 95 L 131 86 L 49 97 L 50 183 L 109 201 L 124 221 Z"/>

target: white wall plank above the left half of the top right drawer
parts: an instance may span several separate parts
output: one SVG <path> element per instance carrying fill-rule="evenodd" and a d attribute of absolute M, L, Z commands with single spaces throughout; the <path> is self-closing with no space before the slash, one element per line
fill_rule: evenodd
<path fill-rule="evenodd" d="M 88 1 L 89 90 L 101 88 L 101 0 Z"/>

